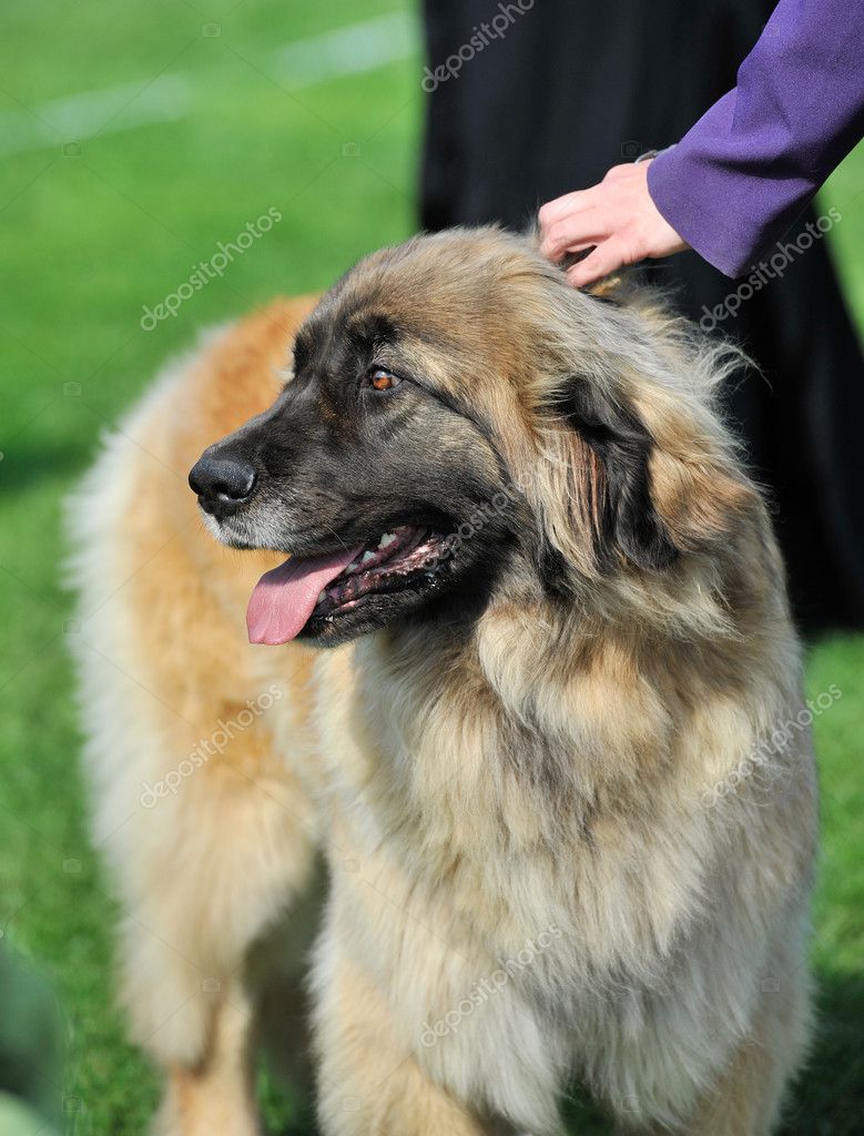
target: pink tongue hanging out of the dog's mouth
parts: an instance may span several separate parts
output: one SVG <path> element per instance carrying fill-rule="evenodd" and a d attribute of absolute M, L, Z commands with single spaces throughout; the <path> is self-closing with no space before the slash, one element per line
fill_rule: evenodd
<path fill-rule="evenodd" d="M 321 557 L 291 557 L 266 571 L 246 608 L 250 643 L 288 643 L 312 615 L 321 588 L 360 553 L 362 544 Z"/>

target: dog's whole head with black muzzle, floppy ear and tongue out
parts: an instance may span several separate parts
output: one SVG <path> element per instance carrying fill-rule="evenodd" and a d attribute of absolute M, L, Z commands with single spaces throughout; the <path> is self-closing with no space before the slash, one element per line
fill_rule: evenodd
<path fill-rule="evenodd" d="M 422 236 L 337 282 L 276 403 L 190 483 L 227 544 L 291 554 L 255 588 L 255 642 L 455 621 L 508 586 L 659 586 L 753 498 L 710 409 L 721 373 L 528 239 Z"/>

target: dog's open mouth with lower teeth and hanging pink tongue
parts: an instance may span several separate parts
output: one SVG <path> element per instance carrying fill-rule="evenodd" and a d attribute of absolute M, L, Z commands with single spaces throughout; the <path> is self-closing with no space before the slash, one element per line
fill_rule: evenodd
<path fill-rule="evenodd" d="M 288 643 L 313 619 L 330 623 L 372 596 L 434 586 L 448 537 L 400 525 L 367 544 L 316 557 L 290 557 L 265 573 L 246 610 L 250 643 Z"/>

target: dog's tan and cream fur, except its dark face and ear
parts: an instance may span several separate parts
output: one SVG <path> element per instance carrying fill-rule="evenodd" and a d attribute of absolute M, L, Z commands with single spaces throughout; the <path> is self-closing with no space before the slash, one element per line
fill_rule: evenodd
<path fill-rule="evenodd" d="M 639 293 L 609 316 L 568 294 L 525 242 L 434 241 L 371 258 L 346 287 L 408 323 L 422 310 L 405 350 L 494 424 L 578 573 L 578 618 L 513 584 L 467 641 L 248 645 L 245 602 L 279 558 L 213 541 L 185 477 L 272 401 L 311 300 L 163 379 L 74 508 L 94 838 L 126 912 L 133 1036 L 169 1071 L 158 1130 L 254 1133 L 250 959 L 321 847 L 329 1136 L 554 1134 L 571 1075 L 626 1130 L 766 1136 L 807 1030 L 815 787 L 802 732 L 703 800 L 802 704 L 765 508 L 713 409 L 722 357 Z M 434 284 L 442 258 L 461 294 Z M 592 553 L 603 470 L 545 412 L 574 362 L 654 436 L 652 496 L 682 550 L 660 576 L 604 575 Z M 266 713 L 142 807 L 143 783 L 269 684 Z M 530 963 L 467 1011 L 528 942 Z"/>

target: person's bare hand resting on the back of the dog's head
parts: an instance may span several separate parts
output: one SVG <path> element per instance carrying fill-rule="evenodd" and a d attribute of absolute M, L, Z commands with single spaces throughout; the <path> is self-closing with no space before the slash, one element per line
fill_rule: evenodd
<path fill-rule="evenodd" d="M 646 257 L 668 257 L 689 249 L 651 199 L 649 165 L 613 166 L 599 185 L 565 193 L 540 208 L 540 250 L 550 260 L 596 245 L 567 269 L 573 287 L 594 284 Z"/>

